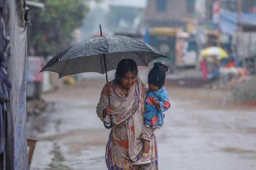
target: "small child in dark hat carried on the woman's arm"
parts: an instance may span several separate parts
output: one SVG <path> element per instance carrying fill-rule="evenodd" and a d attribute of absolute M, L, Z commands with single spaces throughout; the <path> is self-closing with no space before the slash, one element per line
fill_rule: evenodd
<path fill-rule="evenodd" d="M 142 157 L 134 163 L 141 166 L 151 163 L 148 159 L 150 139 L 155 129 L 161 129 L 164 124 L 163 112 L 170 108 L 168 93 L 164 87 L 165 72 L 168 67 L 160 62 L 154 63 L 154 67 L 148 73 L 148 91 L 145 100 L 144 125 L 140 135 L 143 143 Z"/>

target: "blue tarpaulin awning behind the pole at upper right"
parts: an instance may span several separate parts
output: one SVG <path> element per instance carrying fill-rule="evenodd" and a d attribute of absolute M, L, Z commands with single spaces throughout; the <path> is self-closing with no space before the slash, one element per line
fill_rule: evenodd
<path fill-rule="evenodd" d="M 242 13 L 243 25 L 256 26 L 256 14 Z M 237 13 L 222 12 L 220 13 L 220 29 L 223 34 L 233 35 L 237 29 Z"/>

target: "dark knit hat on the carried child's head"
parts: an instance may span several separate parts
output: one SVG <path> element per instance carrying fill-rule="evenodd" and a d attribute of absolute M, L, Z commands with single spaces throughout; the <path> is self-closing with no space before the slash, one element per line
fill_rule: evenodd
<path fill-rule="evenodd" d="M 154 63 L 154 67 L 148 73 L 148 84 L 156 85 L 161 88 L 165 81 L 165 72 L 168 71 L 168 67 L 161 63 Z"/>

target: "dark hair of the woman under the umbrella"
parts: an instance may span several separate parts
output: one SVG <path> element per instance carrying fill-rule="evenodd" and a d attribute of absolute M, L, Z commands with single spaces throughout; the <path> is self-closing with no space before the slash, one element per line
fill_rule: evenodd
<path fill-rule="evenodd" d="M 116 82 L 119 83 L 120 79 L 124 77 L 125 73 L 127 73 L 128 71 L 131 71 L 133 74 L 136 74 L 136 76 L 138 76 L 137 64 L 132 59 L 121 60 L 117 64 L 116 77 L 115 77 Z"/>

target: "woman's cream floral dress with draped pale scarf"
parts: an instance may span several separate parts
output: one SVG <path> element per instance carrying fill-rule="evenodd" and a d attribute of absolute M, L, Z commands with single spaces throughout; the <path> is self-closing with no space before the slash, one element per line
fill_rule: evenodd
<path fill-rule="evenodd" d="M 140 138 L 144 123 L 144 101 L 147 86 L 137 78 L 130 87 L 127 96 L 116 85 L 115 80 L 108 82 L 111 105 L 114 106 L 114 125 L 110 130 L 106 147 L 106 164 L 108 170 L 158 170 L 156 138 L 151 137 L 148 157 L 151 164 L 134 166 L 142 153 L 142 140 Z M 96 112 L 101 121 L 110 123 L 109 116 L 103 119 L 102 112 L 108 105 L 107 85 L 102 89 L 100 101 Z"/>

